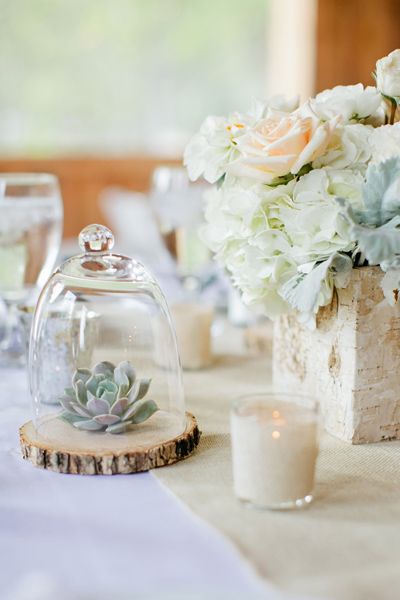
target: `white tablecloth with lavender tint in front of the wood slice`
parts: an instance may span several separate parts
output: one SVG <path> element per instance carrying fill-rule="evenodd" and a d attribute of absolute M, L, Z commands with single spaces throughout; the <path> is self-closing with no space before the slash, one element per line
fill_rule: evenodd
<path fill-rule="evenodd" d="M 18 427 L 30 416 L 24 371 L 0 371 L 2 600 L 282 597 L 151 473 L 82 477 L 25 463 Z"/>

